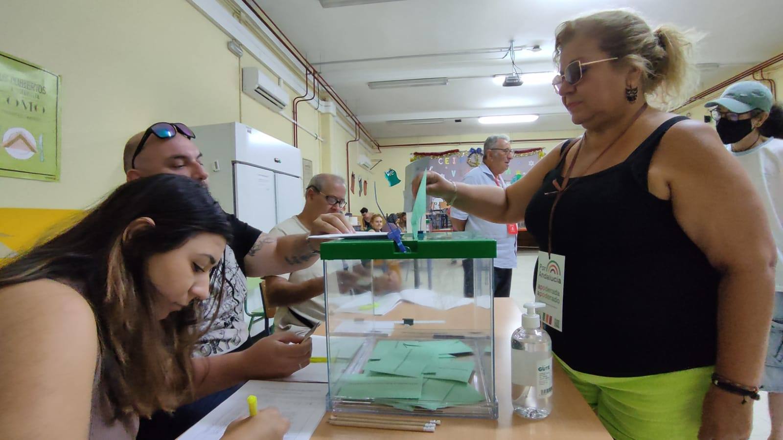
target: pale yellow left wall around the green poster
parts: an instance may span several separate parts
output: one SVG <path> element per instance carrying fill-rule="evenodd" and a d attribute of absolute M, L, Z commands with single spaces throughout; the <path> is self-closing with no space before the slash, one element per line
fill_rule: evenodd
<path fill-rule="evenodd" d="M 124 142 L 154 121 L 240 121 L 241 105 L 242 122 L 293 140 L 289 121 L 240 92 L 240 60 L 261 64 L 247 52 L 238 60 L 226 34 L 184 0 L 2 3 L 0 50 L 63 77 L 63 160 L 60 182 L 0 178 L 0 207 L 87 207 L 124 181 Z M 301 124 L 318 132 L 316 111 L 298 109 Z M 322 171 L 320 142 L 299 135 L 302 157 Z"/>

